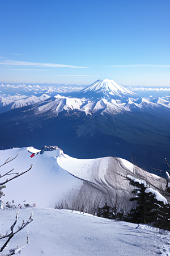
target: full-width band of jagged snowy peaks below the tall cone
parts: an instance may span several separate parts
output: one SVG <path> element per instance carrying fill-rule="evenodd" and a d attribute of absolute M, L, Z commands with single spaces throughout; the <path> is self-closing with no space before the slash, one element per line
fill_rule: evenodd
<path fill-rule="evenodd" d="M 35 105 L 37 113 L 46 113 L 48 115 L 58 115 L 63 110 L 69 113 L 73 110 L 85 112 L 86 114 L 108 113 L 115 115 L 120 112 L 148 112 L 150 110 L 159 111 L 160 109 L 169 108 L 170 101 L 163 98 L 128 98 L 120 100 L 109 100 L 107 98 L 100 98 L 97 100 L 89 100 L 88 98 L 73 98 L 65 97 L 57 94 L 54 97 L 49 97 L 42 94 L 40 97 L 36 96 L 0 96 L 0 113 L 7 112 L 11 109 L 22 108 L 23 106 L 34 105 L 41 102 L 41 106 Z"/>

